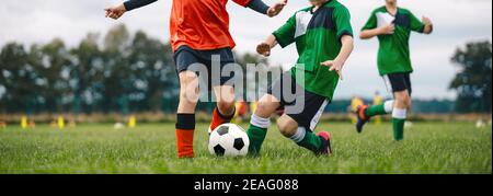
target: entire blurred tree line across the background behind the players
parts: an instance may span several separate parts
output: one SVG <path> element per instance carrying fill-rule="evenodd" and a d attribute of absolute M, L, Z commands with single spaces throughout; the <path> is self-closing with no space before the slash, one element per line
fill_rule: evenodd
<path fill-rule="evenodd" d="M 457 101 L 420 101 L 414 111 L 491 113 L 490 42 L 458 48 L 451 61 L 459 72 L 450 83 Z M 257 55 L 236 54 L 240 65 L 267 64 Z M 0 51 L 0 113 L 173 113 L 179 81 L 171 46 L 125 25 L 104 36 L 89 33 L 77 46 L 55 38 L 28 47 L 8 43 Z M 330 111 L 345 112 L 349 101 Z M 198 109 L 210 111 L 213 104 Z M 435 109 L 432 109 L 435 108 Z"/>

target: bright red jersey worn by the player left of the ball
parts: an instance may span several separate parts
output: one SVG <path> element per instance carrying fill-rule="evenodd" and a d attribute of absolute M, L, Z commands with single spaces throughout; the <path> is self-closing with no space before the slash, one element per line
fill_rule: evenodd
<path fill-rule="evenodd" d="M 246 7 L 251 0 L 232 0 Z M 186 45 L 197 50 L 236 46 L 229 33 L 228 0 L 173 0 L 170 34 L 175 51 Z"/>

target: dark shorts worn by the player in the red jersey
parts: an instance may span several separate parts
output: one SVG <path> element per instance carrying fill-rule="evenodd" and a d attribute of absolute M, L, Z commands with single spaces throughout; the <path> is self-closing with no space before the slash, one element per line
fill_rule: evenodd
<path fill-rule="evenodd" d="M 214 62 L 213 56 L 219 56 L 220 61 Z M 176 72 L 180 73 L 182 71 L 196 71 L 192 70 L 193 65 L 199 64 L 204 65 L 207 69 L 207 79 L 210 87 L 217 87 L 217 85 L 225 85 L 228 81 L 230 81 L 232 78 L 234 78 L 234 72 L 231 72 L 228 77 L 222 77 L 220 74 L 220 71 L 222 71 L 222 68 L 228 64 L 234 64 L 234 56 L 231 51 L 231 48 L 221 48 L 221 49 L 211 49 L 211 50 L 196 50 L 188 46 L 181 46 L 176 49 L 174 53 L 174 62 L 176 65 Z M 213 66 L 219 65 L 220 68 L 218 69 L 219 72 L 214 76 L 220 77 L 219 83 L 211 82 L 213 80 Z M 196 71 L 197 72 L 197 71 Z M 199 72 L 197 72 L 199 74 Z"/>

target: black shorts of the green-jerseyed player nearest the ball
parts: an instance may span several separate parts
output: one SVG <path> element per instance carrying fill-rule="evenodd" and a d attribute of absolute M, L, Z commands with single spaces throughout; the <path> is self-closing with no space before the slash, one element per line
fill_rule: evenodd
<path fill-rule="evenodd" d="M 290 87 L 285 87 L 285 84 L 290 84 Z M 286 90 L 283 92 L 284 88 Z M 284 109 L 285 114 L 297 122 L 300 127 L 310 131 L 317 128 L 323 111 L 330 103 L 326 97 L 306 91 L 296 83 L 289 72 L 284 73 L 279 80 L 274 82 L 267 93 L 280 101 L 279 109 Z M 297 103 L 297 97 L 305 99 L 302 103 Z"/>

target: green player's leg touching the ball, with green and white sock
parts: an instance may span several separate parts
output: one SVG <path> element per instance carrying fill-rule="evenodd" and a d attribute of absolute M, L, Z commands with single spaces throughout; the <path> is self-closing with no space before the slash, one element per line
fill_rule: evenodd
<path fill-rule="evenodd" d="M 260 153 L 262 143 L 267 135 L 267 128 L 271 126 L 271 116 L 279 106 L 279 100 L 272 94 L 264 95 L 256 103 L 256 108 L 250 120 L 250 127 L 246 130 L 250 139 L 249 154 L 257 155 Z"/>

